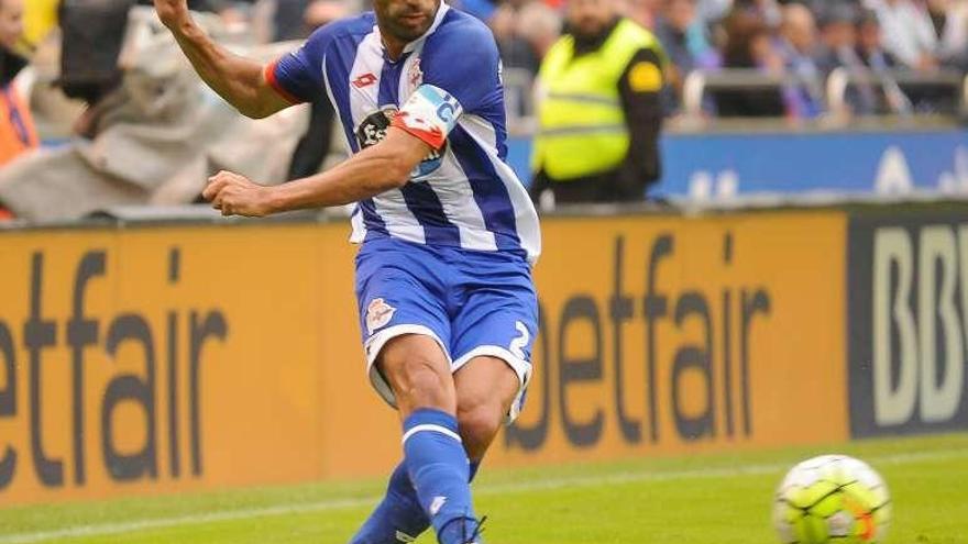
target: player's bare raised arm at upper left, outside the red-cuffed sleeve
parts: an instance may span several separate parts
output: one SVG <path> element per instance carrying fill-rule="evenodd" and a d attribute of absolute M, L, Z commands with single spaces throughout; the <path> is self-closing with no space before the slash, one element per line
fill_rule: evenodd
<path fill-rule="evenodd" d="M 154 0 L 154 4 L 195 71 L 240 113 L 262 119 L 293 104 L 272 87 L 260 63 L 212 41 L 191 19 L 186 0 Z"/>

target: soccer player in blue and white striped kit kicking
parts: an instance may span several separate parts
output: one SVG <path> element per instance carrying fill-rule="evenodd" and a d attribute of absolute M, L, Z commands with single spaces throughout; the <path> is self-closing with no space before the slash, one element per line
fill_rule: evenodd
<path fill-rule="evenodd" d="M 540 232 L 505 163 L 504 95 L 487 27 L 440 0 L 375 0 L 263 67 L 154 0 L 202 79 L 264 118 L 326 93 L 354 155 L 290 184 L 219 173 L 223 214 L 356 202 L 360 325 L 370 379 L 403 420 L 404 459 L 353 544 L 480 543 L 470 480 L 531 375 Z"/>

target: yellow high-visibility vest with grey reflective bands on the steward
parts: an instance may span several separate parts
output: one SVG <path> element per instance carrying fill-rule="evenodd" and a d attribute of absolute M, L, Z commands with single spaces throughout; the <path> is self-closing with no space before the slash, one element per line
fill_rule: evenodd
<path fill-rule="evenodd" d="M 623 19 L 597 51 L 574 55 L 574 37 L 565 35 L 549 49 L 538 74 L 543 95 L 538 107 L 531 167 L 543 168 L 554 180 L 614 169 L 628 153 L 629 135 L 618 82 L 635 54 L 653 48 L 658 40 L 638 24 Z M 661 69 L 644 64 L 630 77 L 640 87 L 658 91 Z"/>

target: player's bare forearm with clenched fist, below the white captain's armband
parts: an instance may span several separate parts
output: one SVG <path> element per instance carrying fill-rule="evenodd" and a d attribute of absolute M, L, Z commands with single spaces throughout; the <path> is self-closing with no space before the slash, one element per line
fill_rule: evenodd
<path fill-rule="evenodd" d="M 244 176 L 221 171 L 210 179 L 202 196 L 222 215 L 256 218 L 348 204 L 403 187 L 431 149 L 424 140 L 391 126 L 382 142 L 322 174 L 264 187 Z"/>

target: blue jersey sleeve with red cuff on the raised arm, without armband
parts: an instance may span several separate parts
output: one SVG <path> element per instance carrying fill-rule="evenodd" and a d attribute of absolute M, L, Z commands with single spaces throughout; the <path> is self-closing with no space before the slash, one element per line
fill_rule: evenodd
<path fill-rule="evenodd" d="M 323 92 L 322 57 L 329 42 L 327 27 L 317 30 L 298 49 L 265 67 L 265 80 L 293 103 L 312 102 Z"/>

